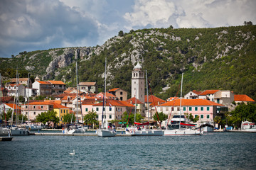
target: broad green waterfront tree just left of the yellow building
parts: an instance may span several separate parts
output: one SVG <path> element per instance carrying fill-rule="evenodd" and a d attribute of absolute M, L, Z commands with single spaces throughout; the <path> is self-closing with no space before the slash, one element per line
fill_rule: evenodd
<path fill-rule="evenodd" d="M 55 124 L 60 122 L 60 118 L 58 118 L 57 113 L 52 110 L 38 114 L 36 116 L 36 122 L 41 122 L 43 125 L 46 125 L 46 123 L 50 125 L 50 122 L 52 122 L 55 126 Z"/>

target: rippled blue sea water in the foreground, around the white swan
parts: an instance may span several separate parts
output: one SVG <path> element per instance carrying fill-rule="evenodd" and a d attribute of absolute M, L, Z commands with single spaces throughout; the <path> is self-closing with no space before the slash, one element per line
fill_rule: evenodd
<path fill-rule="evenodd" d="M 14 137 L 0 142 L 0 169 L 255 169 L 255 142 L 256 133 L 241 132 Z"/>

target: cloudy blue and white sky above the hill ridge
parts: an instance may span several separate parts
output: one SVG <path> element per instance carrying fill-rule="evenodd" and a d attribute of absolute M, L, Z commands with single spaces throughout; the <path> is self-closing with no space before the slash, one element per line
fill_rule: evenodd
<path fill-rule="evenodd" d="M 95 47 L 120 30 L 256 23 L 255 0 L 0 0 L 0 57 Z"/>

